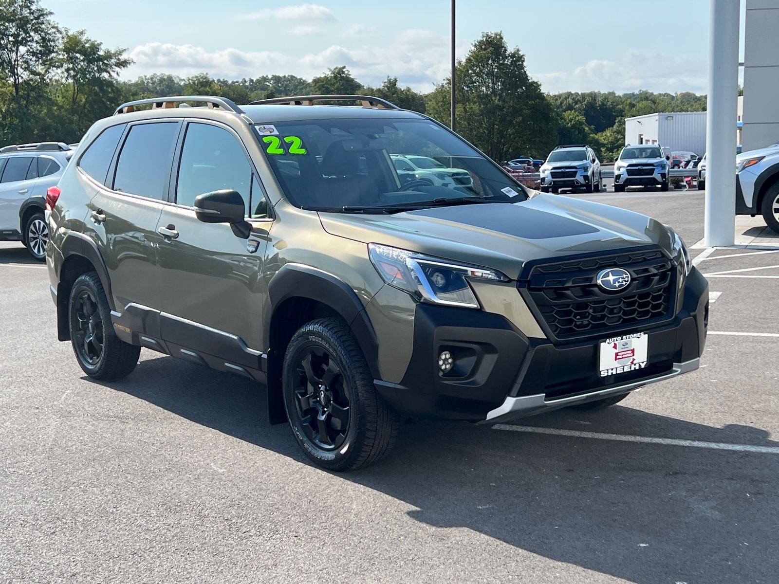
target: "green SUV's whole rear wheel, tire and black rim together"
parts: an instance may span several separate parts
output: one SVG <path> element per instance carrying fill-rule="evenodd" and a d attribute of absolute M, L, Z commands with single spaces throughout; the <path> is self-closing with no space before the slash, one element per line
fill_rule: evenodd
<path fill-rule="evenodd" d="M 111 308 L 95 272 L 76 278 L 68 301 L 70 342 L 86 375 L 115 381 L 136 368 L 141 348 L 125 343 L 111 325 Z"/>

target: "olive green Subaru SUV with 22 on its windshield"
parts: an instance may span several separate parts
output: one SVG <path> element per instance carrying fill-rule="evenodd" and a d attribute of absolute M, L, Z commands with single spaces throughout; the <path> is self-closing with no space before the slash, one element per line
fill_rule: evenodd
<path fill-rule="evenodd" d="M 146 347 L 260 382 L 332 470 L 410 417 L 608 406 L 696 369 L 706 340 L 707 281 L 670 227 L 530 191 L 374 97 L 124 104 L 47 206 L 58 337 L 87 375 Z"/>

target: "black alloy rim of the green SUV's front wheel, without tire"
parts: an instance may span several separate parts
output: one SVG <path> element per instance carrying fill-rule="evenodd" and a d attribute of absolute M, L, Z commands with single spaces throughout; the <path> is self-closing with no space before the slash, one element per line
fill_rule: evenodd
<path fill-rule="evenodd" d="M 307 347 L 298 361 L 294 395 L 303 431 L 319 448 L 337 449 L 344 444 L 349 427 L 344 375 L 323 347 Z"/>

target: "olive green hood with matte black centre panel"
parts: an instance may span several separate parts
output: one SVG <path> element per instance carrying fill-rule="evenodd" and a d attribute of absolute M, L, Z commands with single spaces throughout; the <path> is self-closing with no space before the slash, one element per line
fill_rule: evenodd
<path fill-rule="evenodd" d="M 512 279 L 532 259 L 650 244 L 661 245 L 671 255 L 671 238 L 660 222 L 626 209 L 558 195 L 394 215 L 320 212 L 319 216 L 333 235 L 499 269 Z"/>

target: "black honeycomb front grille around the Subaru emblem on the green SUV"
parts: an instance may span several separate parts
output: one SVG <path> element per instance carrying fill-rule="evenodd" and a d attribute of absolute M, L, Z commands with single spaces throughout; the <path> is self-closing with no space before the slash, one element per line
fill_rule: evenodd
<path fill-rule="evenodd" d="M 629 286 L 615 293 L 596 282 L 601 269 L 613 267 L 631 276 Z M 675 266 L 656 249 L 537 265 L 519 287 L 556 339 L 576 339 L 669 318 L 674 275 Z"/>

